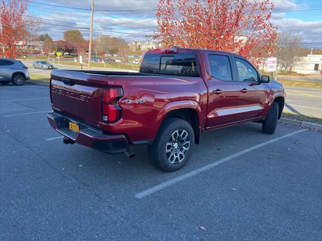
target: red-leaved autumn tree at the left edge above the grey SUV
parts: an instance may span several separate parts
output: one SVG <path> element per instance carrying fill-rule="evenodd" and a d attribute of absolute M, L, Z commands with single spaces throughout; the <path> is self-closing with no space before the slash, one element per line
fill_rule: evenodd
<path fill-rule="evenodd" d="M 24 16 L 28 9 L 28 0 L 0 0 L 0 56 L 16 58 L 17 45 L 24 47 L 29 35 Z"/>

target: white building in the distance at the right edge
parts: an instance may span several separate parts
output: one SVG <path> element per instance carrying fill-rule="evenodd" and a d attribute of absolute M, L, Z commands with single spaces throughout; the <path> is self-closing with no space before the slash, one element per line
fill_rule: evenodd
<path fill-rule="evenodd" d="M 289 70 L 301 74 L 322 74 L 322 54 L 309 54 L 302 57 Z"/>

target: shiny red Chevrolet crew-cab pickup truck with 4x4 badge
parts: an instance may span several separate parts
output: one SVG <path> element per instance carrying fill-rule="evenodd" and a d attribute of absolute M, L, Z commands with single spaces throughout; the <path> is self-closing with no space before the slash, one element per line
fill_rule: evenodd
<path fill-rule="evenodd" d="M 47 117 L 65 144 L 110 154 L 148 145 L 151 161 L 175 171 L 201 132 L 255 121 L 273 134 L 284 87 L 244 57 L 201 49 L 154 49 L 139 72 L 53 70 Z"/>

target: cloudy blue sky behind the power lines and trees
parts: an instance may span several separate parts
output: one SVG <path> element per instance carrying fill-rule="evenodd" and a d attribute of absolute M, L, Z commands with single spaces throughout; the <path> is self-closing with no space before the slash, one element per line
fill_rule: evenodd
<path fill-rule="evenodd" d="M 274 2 L 272 23 L 279 27 L 279 31 L 288 30 L 300 33 L 304 42 L 317 43 L 315 45 L 321 47 L 321 0 L 272 0 L 272 2 Z M 157 3 L 157 0 L 95 0 L 97 11 L 94 17 L 94 38 L 99 34 L 108 34 L 123 37 L 128 42 L 145 40 L 145 36 L 152 35 L 156 27 L 155 10 L 153 9 L 156 8 Z M 83 33 L 85 38 L 88 38 L 90 8 L 91 0 L 31 0 L 29 3 L 29 13 L 34 17 L 50 20 L 43 20 L 40 32 L 47 32 L 55 40 L 61 39 L 62 33 L 73 29 L 74 26 Z M 141 12 L 137 11 L 142 9 Z M 119 12 L 125 10 L 129 12 Z M 133 10 L 135 11 L 130 12 Z M 311 47 L 312 44 L 308 45 Z"/>

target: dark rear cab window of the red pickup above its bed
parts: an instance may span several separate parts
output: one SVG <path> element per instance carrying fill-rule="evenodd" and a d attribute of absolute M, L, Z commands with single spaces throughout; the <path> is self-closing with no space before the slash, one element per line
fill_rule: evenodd
<path fill-rule="evenodd" d="M 195 54 L 145 54 L 140 72 L 200 76 Z"/>

